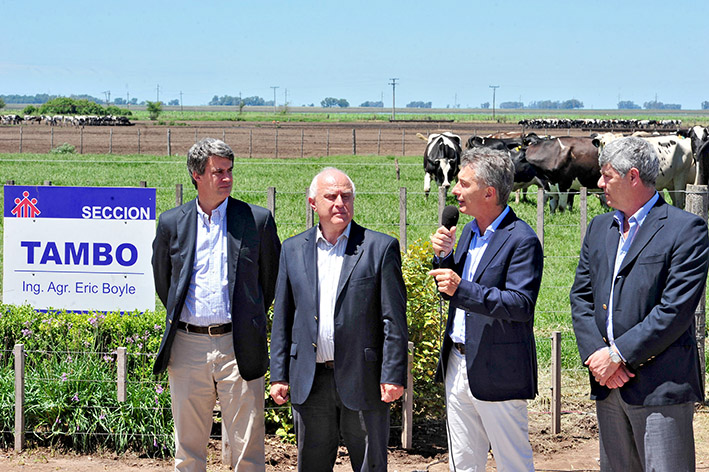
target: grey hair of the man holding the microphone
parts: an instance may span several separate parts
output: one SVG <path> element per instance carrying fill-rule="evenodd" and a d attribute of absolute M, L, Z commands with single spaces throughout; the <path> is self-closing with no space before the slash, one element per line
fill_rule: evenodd
<path fill-rule="evenodd" d="M 498 205 L 507 205 L 515 179 L 515 166 L 508 153 L 487 147 L 466 149 L 460 156 L 460 168 L 466 166 L 486 187 L 495 189 Z"/>

